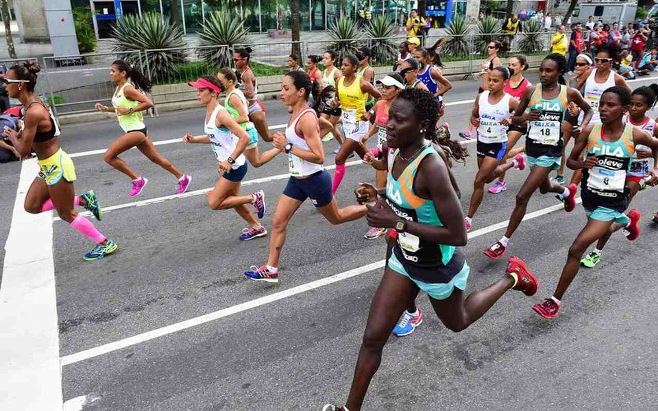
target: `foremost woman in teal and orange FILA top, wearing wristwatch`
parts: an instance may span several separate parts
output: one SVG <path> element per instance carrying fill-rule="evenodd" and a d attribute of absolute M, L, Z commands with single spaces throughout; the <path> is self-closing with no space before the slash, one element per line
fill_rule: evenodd
<path fill-rule="evenodd" d="M 388 238 L 388 262 L 370 305 L 347 402 L 340 407 L 327 404 L 324 411 L 361 410 L 384 345 L 418 291 L 428 294 L 445 327 L 462 331 L 509 289 L 526 295 L 537 290 L 537 280 L 525 264 L 510 258 L 503 278 L 465 296 L 470 269 L 464 254 L 456 248 L 467 242 L 461 205 L 450 185 L 445 162 L 426 143 L 426 137 L 435 138 L 437 114 L 438 103 L 430 93 L 401 91 L 386 125 L 387 143 L 395 149 L 386 188 L 362 183 L 356 190 L 359 203 L 376 201 L 367 205 L 368 224 L 395 228 L 398 234 L 395 239 Z"/>

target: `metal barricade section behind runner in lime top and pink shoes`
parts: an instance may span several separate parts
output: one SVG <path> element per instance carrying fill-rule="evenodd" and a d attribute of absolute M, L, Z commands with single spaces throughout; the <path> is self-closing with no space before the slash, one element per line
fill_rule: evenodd
<path fill-rule="evenodd" d="M 117 59 L 143 64 L 138 50 L 44 57 L 48 101 L 55 114 L 91 112 L 95 110 L 95 103 L 107 105 L 115 88 L 109 79 L 109 70 Z"/>

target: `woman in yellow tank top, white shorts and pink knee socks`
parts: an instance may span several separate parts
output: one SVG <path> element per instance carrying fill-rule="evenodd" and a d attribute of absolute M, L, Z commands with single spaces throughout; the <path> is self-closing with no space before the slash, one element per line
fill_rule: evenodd
<path fill-rule="evenodd" d="M 338 99 L 342 108 L 343 132 L 345 141 L 340 146 L 336 155 L 336 172 L 332 183 L 332 194 L 336 194 L 340 181 L 345 176 L 345 160 L 353 152 L 359 157 L 365 155 L 365 147 L 361 145 L 361 139 L 368 132 L 368 121 L 364 120 L 366 113 L 366 98 L 368 95 L 379 99 L 381 93 L 368 83 L 363 77 L 357 76 L 356 70 L 359 60 L 353 55 L 343 58 L 341 71 L 343 76 L 336 84 Z"/>

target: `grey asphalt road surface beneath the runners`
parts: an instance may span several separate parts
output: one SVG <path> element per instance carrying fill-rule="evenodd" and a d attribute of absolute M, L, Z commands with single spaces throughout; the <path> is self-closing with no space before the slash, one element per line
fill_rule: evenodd
<path fill-rule="evenodd" d="M 536 81 L 536 75 L 530 79 Z M 473 99 L 477 84 L 454 85 L 446 97 L 444 120 L 456 134 L 467 124 L 471 105 L 451 103 Z M 286 120 L 284 107 L 268 101 L 270 126 Z M 201 133 L 203 110 L 146 122 L 153 140 L 163 141 L 186 132 Z M 119 132 L 114 121 L 66 126 L 61 144 L 70 154 L 84 153 L 107 147 Z M 261 151 L 268 147 L 259 143 Z M 336 143 L 324 147 L 329 152 Z M 464 210 L 476 172 L 474 145 L 467 147 L 472 157 L 465 166 L 453 167 Z M 191 191 L 215 183 L 216 162 L 209 147 L 169 143 L 158 149 L 191 174 Z M 124 411 L 321 410 L 326 402 L 342 404 L 370 300 L 383 273 L 382 268 L 363 266 L 384 258 L 384 241 L 363 238 L 365 220 L 331 226 L 305 204 L 290 223 L 280 282 L 255 283 L 241 273 L 252 264 L 264 264 L 268 237 L 241 243 L 238 235 L 245 223 L 232 210 L 209 210 L 203 193 L 161 199 L 175 192 L 174 178 L 136 150 L 122 158 L 149 178 L 136 199 L 128 197 L 130 180 L 107 166 L 102 155 L 74 157 L 76 191 L 93 188 L 103 206 L 122 206 L 97 224 L 118 244 L 114 255 L 85 262 L 82 255 L 89 241 L 64 222 L 53 222 L 64 401 L 86 401 L 76 410 Z M 326 165 L 333 165 L 331 156 Z M 0 206 L 7 210 L 0 215 L 4 244 L 20 164 L 3 164 L 0 170 L 5 193 Z M 267 228 L 286 183 L 275 176 L 286 172 L 280 156 L 263 168 L 250 168 L 245 178 L 270 178 L 245 183 L 242 189 L 265 190 Z M 482 251 L 503 234 L 503 228 L 492 226 L 509 219 L 526 175 L 509 172 L 508 190 L 486 195 L 476 214 L 463 249 L 471 267 L 467 291 L 485 287 L 503 274 L 506 262 L 491 262 Z M 349 166 L 338 204 L 353 204 L 353 187 L 373 180 L 374 172 L 367 166 Z M 585 224 L 582 206 L 570 214 L 557 210 L 523 222 L 513 237 L 507 255 L 524 258 L 540 279 L 534 297 L 511 292 L 480 321 L 453 333 L 421 296 L 423 324 L 409 337 L 390 339 L 363 409 L 655 410 L 655 190 L 634 200 L 633 206 L 643 213 L 640 239 L 630 243 L 617 233 L 602 262 L 578 274 L 555 320 L 540 318 L 530 306 L 553 292 L 567 250 Z M 129 205 L 136 201 L 141 201 L 139 206 Z M 556 204 L 552 195 L 536 193 L 528 213 Z M 332 277 L 345 272 L 349 273 L 344 279 Z M 332 280 L 325 285 L 317 282 L 323 279 Z M 309 283 L 307 291 L 295 289 Z M 275 293 L 283 294 L 263 301 Z M 199 319 L 219 310 L 224 311 L 215 320 Z M 188 320 L 199 324 L 172 328 Z M 145 334 L 161 327 L 169 327 L 161 336 Z M 123 341 L 133 336 L 141 337 Z M 98 347 L 93 352 L 98 355 L 87 351 Z"/>

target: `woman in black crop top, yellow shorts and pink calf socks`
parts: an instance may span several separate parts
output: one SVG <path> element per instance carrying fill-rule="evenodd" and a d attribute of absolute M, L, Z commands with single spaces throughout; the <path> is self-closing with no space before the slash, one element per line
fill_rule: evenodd
<path fill-rule="evenodd" d="M 87 218 L 78 214 L 74 206 L 84 206 L 97 220 L 103 219 L 103 211 L 93 190 L 75 195 L 73 181 L 76 169 L 68 154 L 59 146 L 60 133 L 50 111 L 34 93 L 37 73 L 41 71 L 38 62 L 16 64 L 5 73 L 3 83 L 9 97 L 18 99 L 24 109 L 23 128 L 16 132 L 7 128 L 3 135 L 18 151 L 19 158 L 30 155 L 34 150 L 39 162 L 39 174 L 30 185 L 25 197 L 25 210 L 30 214 L 57 210 L 59 218 L 70 224 L 74 230 L 96 243 L 84 255 L 87 261 L 99 260 L 116 251 L 116 244 L 105 237 Z"/>

